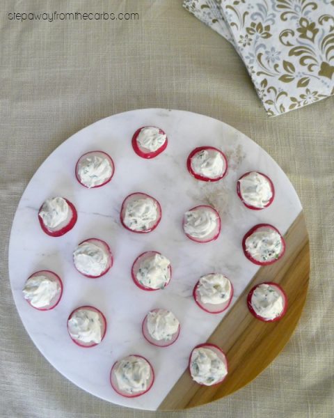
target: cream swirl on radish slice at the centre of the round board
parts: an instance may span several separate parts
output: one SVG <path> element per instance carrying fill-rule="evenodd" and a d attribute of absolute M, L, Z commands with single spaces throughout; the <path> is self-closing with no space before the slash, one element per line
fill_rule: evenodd
<path fill-rule="evenodd" d="M 163 289 L 170 280 L 170 261 L 161 254 L 144 259 L 139 265 L 136 279 L 147 288 Z"/>

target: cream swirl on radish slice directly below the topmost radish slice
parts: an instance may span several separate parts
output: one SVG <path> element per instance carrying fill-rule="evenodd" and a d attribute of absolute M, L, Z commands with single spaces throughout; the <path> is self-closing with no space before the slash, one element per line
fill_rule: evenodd
<path fill-rule="evenodd" d="M 147 231 L 158 216 L 157 203 L 150 197 L 140 197 L 127 203 L 123 222 L 133 231 Z"/>

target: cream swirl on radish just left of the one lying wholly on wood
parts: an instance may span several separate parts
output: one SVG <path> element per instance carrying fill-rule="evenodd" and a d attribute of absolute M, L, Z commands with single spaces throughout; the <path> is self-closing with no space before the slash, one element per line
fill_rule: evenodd
<path fill-rule="evenodd" d="M 198 293 L 202 303 L 224 303 L 230 299 L 231 291 L 231 282 L 223 274 L 207 274 L 200 278 L 198 284 Z"/>

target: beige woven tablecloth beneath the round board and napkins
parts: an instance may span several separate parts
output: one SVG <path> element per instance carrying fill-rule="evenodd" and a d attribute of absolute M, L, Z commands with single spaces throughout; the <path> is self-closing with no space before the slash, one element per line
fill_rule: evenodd
<path fill-rule="evenodd" d="M 334 416 L 334 99 L 268 118 L 232 46 L 181 3 L 1 0 L 1 417 Z M 138 12 L 140 20 L 10 22 L 15 10 Z M 35 170 L 82 127 L 143 107 L 213 116 L 254 139 L 296 187 L 310 233 L 310 293 L 283 353 L 236 394 L 184 412 L 120 408 L 72 385 L 33 346 L 8 280 L 10 224 Z"/>

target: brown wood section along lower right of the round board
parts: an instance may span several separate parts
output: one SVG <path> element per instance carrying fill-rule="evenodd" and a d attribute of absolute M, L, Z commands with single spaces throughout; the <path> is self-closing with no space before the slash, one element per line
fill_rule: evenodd
<path fill-rule="evenodd" d="M 229 364 L 227 378 L 221 385 L 204 387 L 193 382 L 186 370 L 159 405 L 159 410 L 191 408 L 232 394 L 261 373 L 289 341 L 305 304 L 310 275 L 309 242 L 303 212 L 285 234 L 285 241 L 287 247 L 283 258 L 260 268 L 207 340 L 220 346 L 226 354 Z M 248 292 L 262 281 L 274 281 L 287 293 L 287 314 L 278 322 L 264 323 L 248 311 Z"/>

